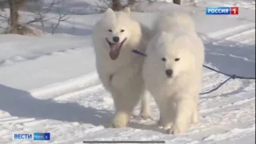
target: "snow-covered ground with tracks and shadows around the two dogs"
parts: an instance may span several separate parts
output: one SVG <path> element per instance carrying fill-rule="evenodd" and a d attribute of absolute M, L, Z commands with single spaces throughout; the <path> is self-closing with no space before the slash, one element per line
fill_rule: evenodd
<path fill-rule="evenodd" d="M 255 1 L 243 3 L 246 2 L 255 5 Z M 204 7 L 158 3 L 142 8 L 149 12 L 190 12 L 205 42 L 206 65 L 229 74 L 254 77 L 255 6 L 249 4 L 239 9 L 238 17 L 206 15 Z M 154 13 L 134 13 L 133 17 L 149 26 L 155 18 Z M 98 18 L 101 14 L 72 15 L 54 36 L 0 35 L 1 144 L 38 143 L 11 138 L 12 134 L 34 132 L 50 132 L 49 143 L 66 144 L 84 140 L 255 143 L 254 80 L 231 80 L 214 93 L 202 95 L 201 122 L 186 134 L 166 134 L 155 122 L 136 117 L 138 108 L 129 128 L 105 128 L 114 111 L 112 98 L 99 82 L 94 66 L 90 34 Z M 225 79 L 205 70 L 202 91 Z M 153 99 L 151 106 L 157 120 L 158 109 Z"/>

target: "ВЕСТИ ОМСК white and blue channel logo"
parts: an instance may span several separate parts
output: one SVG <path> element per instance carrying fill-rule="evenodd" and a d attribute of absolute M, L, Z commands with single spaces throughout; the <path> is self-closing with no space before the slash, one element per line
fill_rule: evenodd
<path fill-rule="evenodd" d="M 50 133 L 13 134 L 13 140 L 50 141 Z"/>

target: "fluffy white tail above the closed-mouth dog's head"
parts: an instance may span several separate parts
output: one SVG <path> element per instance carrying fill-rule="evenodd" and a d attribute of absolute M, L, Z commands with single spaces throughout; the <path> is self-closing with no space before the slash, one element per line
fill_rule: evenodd
<path fill-rule="evenodd" d="M 182 29 L 186 32 L 195 32 L 194 21 L 189 14 L 174 13 L 163 14 L 154 22 L 154 32 Z M 155 33 L 154 33 L 155 34 Z"/>

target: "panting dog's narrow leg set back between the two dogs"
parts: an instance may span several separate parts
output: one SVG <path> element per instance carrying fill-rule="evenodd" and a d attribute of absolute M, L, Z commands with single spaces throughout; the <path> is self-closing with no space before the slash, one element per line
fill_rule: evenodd
<path fill-rule="evenodd" d="M 154 120 L 151 116 L 151 107 L 150 107 L 150 92 L 145 90 L 141 98 L 142 106 L 140 116 L 144 119 Z"/>

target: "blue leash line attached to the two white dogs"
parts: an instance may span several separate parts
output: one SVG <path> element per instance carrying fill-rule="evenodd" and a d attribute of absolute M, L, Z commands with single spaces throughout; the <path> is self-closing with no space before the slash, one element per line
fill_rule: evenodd
<path fill-rule="evenodd" d="M 135 54 L 140 54 L 144 57 L 146 57 L 146 54 L 143 54 L 142 52 L 138 51 L 138 50 L 132 50 L 132 52 L 134 52 Z M 220 83 L 218 86 L 216 86 L 213 90 L 209 90 L 207 92 L 204 92 L 204 93 L 200 93 L 201 95 L 202 94 L 210 94 L 211 92 L 215 91 L 215 90 L 218 90 L 218 88 L 220 88 L 222 85 L 224 85 L 226 82 L 228 82 L 230 79 L 235 79 L 235 78 L 238 78 L 238 79 L 255 79 L 255 78 L 252 78 L 252 77 L 242 77 L 242 76 L 238 76 L 236 74 L 226 74 L 226 73 L 223 73 L 221 71 L 218 71 L 218 70 L 215 70 L 209 66 L 206 66 L 206 65 L 203 65 L 203 67 L 205 67 L 206 69 L 208 70 L 213 70 L 215 71 L 216 73 L 219 73 L 219 74 L 223 74 L 223 75 L 226 75 L 228 76 L 229 78 L 227 78 L 224 82 Z"/>

